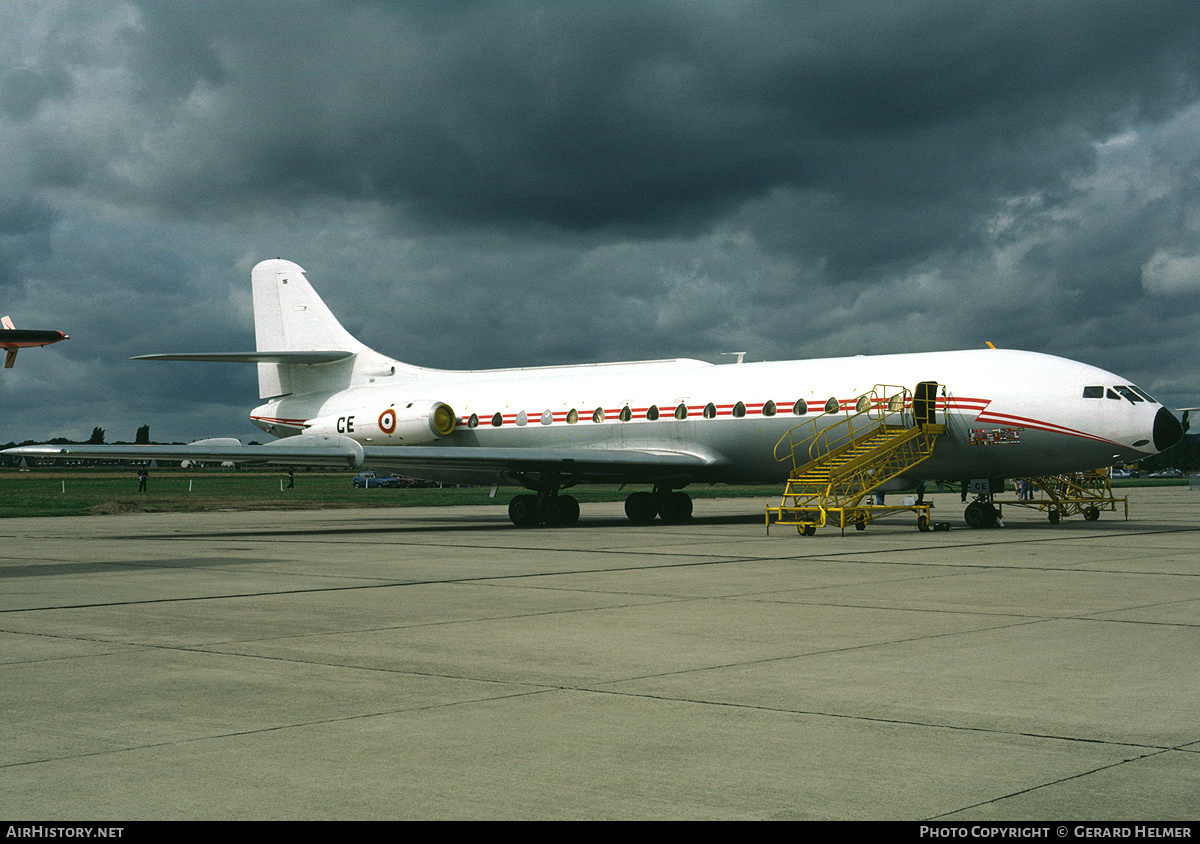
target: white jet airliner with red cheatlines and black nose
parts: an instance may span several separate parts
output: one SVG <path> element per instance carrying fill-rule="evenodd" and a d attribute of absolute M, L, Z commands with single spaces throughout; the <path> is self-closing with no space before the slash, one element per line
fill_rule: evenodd
<path fill-rule="evenodd" d="M 946 433 L 892 489 L 922 480 L 1022 478 L 1110 466 L 1182 437 L 1127 378 L 1032 352 L 976 349 L 721 364 L 700 360 L 446 371 L 403 364 L 355 340 L 289 261 L 252 273 L 256 352 L 156 360 L 258 365 L 254 425 L 280 439 L 242 445 L 25 447 L 8 454 L 221 460 L 400 471 L 448 483 L 523 486 L 516 525 L 578 519 L 577 484 L 648 484 L 629 517 L 685 520 L 689 484 L 779 483 L 775 443 L 876 384 L 936 382 Z M 830 414 L 829 420 L 835 418 Z"/>

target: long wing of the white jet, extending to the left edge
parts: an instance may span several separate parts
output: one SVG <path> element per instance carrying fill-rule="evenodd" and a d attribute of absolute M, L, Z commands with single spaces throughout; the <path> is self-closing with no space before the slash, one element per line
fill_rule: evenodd
<path fill-rule="evenodd" d="M 386 468 L 419 478 L 472 474 L 558 472 L 564 478 L 624 483 L 638 478 L 701 478 L 724 461 L 703 451 L 643 448 L 474 448 L 461 445 L 367 445 L 348 437 L 304 435 L 266 445 L 242 445 L 234 438 L 187 445 L 22 445 L 0 454 L 18 457 L 89 457 L 101 460 L 200 460 L 242 465 L 344 466 Z"/>

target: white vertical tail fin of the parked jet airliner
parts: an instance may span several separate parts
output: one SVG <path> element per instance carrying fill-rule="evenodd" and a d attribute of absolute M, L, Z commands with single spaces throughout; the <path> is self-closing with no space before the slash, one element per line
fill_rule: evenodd
<path fill-rule="evenodd" d="M 299 264 L 263 261 L 252 270 L 251 285 L 258 352 L 353 353 L 325 364 L 259 363 L 259 397 L 343 390 L 412 369 L 367 348 L 342 328 Z"/>

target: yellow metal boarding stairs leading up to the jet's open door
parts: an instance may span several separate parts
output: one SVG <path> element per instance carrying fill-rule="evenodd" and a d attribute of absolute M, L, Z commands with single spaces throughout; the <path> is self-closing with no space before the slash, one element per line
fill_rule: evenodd
<path fill-rule="evenodd" d="M 830 523 L 845 535 L 851 522 L 862 531 L 874 519 L 904 510 L 917 514 L 920 531 L 930 529 L 930 504 L 876 504 L 871 493 L 934 453 L 938 435 L 946 432 L 946 425 L 936 424 L 937 388 L 922 382 L 914 399 L 904 387 L 876 384 L 847 409 L 823 413 L 785 433 L 775 444 L 775 460 L 791 461 L 792 472 L 782 503 L 767 507 L 767 531 L 774 517 L 776 525 L 796 525 L 805 537 Z"/>

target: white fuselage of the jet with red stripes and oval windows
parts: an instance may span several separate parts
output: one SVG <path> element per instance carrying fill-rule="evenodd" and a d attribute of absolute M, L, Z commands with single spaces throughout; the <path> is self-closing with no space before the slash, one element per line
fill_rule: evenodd
<path fill-rule="evenodd" d="M 685 473 L 688 480 L 776 483 L 791 465 L 778 461 L 773 448 L 790 429 L 827 407 L 845 409 L 877 384 L 911 390 L 928 381 L 944 385 L 937 409 L 947 433 L 934 456 L 906 475 L 913 481 L 1043 475 L 1136 460 L 1160 450 L 1156 424 L 1162 429 L 1168 423 L 1160 414 L 1170 415 L 1127 379 L 1094 366 L 976 349 L 756 364 L 421 370 L 275 400 L 251 419 L 276 436 L 340 435 L 364 445 L 689 451 L 709 459 L 709 467 Z M 446 436 L 422 424 L 434 405 L 454 411 Z M 444 478 L 481 483 L 493 474 L 448 469 Z"/>

